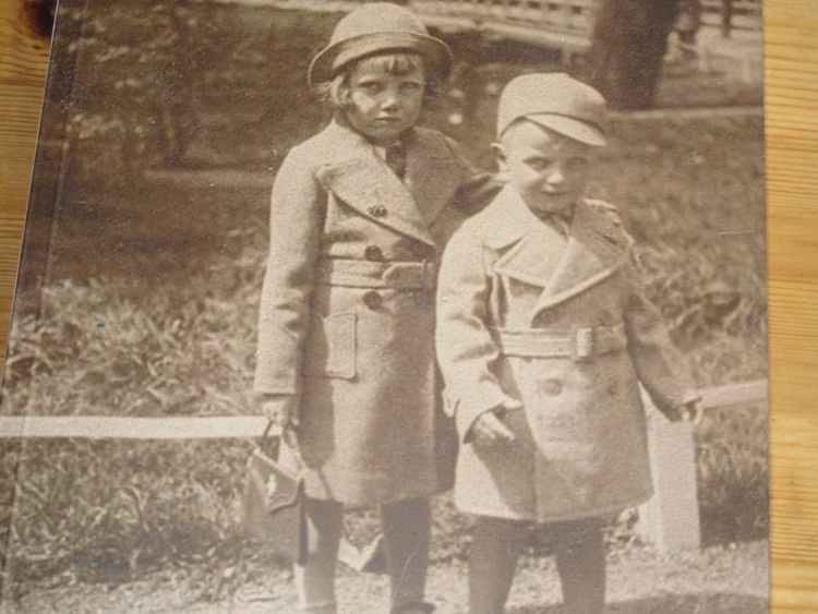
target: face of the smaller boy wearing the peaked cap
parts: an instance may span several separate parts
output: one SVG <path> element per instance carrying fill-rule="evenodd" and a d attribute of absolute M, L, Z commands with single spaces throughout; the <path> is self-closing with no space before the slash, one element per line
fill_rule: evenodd
<path fill-rule="evenodd" d="M 512 124 L 493 147 L 501 170 L 536 214 L 566 212 L 585 194 L 594 147 L 528 120 Z"/>

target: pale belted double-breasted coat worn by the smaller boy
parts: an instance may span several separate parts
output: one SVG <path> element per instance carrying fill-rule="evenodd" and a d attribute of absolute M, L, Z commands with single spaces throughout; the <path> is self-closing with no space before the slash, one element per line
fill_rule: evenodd
<path fill-rule="evenodd" d="M 564 236 L 510 188 L 453 237 L 438 280 L 445 396 L 465 442 L 495 408 L 516 437 L 461 446 L 461 509 L 543 522 L 650 496 L 638 383 L 673 418 L 696 393 L 631 243 L 610 205 L 577 204 Z"/>

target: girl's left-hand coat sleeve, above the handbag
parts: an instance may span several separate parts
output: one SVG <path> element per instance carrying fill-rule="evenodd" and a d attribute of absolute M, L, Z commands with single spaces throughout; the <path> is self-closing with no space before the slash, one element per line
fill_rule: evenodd
<path fill-rule="evenodd" d="M 270 245 L 262 287 L 256 393 L 300 394 L 310 296 L 326 193 L 296 148 L 285 159 L 270 197 Z"/>

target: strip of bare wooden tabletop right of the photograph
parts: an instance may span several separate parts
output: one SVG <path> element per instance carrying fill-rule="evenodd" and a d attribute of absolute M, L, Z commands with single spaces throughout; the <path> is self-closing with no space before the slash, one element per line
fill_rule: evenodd
<path fill-rule="evenodd" d="M 772 611 L 818 610 L 818 4 L 765 2 Z"/>

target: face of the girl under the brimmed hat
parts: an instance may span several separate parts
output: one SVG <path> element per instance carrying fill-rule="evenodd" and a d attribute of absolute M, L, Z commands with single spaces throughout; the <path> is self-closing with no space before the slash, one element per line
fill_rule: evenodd
<path fill-rule="evenodd" d="M 352 69 L 346 92 L 347 119 L 372 141 L 389 145 L 418 123 L 423 107 L 424 74 L 409 67 L 400 75 L 363 62 Z"/>

